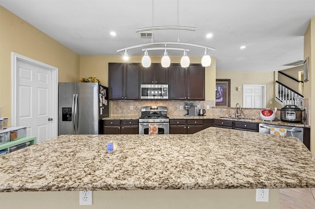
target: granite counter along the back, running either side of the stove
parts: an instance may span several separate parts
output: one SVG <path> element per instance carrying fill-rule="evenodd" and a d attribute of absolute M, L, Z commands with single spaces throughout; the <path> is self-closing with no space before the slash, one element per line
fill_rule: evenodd
<path fill-rule="evenodd" d="M 106 118 L 102 118 L 102 120 L 138 120 L 140 115 L 115 115 L 109 116 Z M 185 115 L 168 115 L 169 119 L 220 119 L 220 120 L 230 120 L 230 121 L 242 121 L 242 122 L 250 122 L 250 123 L 262 123 L 262 124 L 272 124 L 279 126 L 293 126 L 293 127 L 311 127 L 309 125 L 305 125 L 303 123 L 286 123 L 280 121 L 280 119 L 276 118 L 274 121 L 263 121 L 257 118 L 249 119 L 235 119 L 228 117 L 220 117 L 213 115 L 204 115 L 204 116 L 185 116 Z M 242 118 L 242 117 L 240 117 Z"/>

